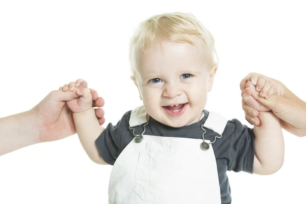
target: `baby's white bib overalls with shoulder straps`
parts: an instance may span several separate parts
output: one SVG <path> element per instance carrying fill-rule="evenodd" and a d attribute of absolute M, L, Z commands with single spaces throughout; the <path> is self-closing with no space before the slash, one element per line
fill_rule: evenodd
<path fill-rule="evenodd" d="M 144 133 L 147 122 L 143 106 L 132 111 L 130 127 L 144 124 Z M 221 135 L 226 122 L 219 114 L 210 112 L 202 129 L 206 127 Z M 216 158 L 210 140 L 143 133 L 123 149 L 114 163 L 109 203 L 221 203 Z"/>

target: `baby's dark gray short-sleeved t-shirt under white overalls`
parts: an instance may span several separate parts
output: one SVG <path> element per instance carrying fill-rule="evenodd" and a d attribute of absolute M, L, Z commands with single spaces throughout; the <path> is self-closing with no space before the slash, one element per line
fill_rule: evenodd
<path fill-rule="evenodd" d="M 106 130 L 95 141 L 101 158 L 110 165 L 114 165 L 121 151 L 134 138 L 132 131 L 129 129 L 131 112 L 126 112 L 117 124 L 109 123 Z M 200 121 L 179 128 L 164 125 L 150 117 L 144 134 L 202 139 L 201 125 L 205 123 L 209 115 L 207 110 L 204 113 L 205 116 Z M 133 128 L 135 128 L 135 134 L 143 132 L 143 125 Z M 215 136 L 219 136 L 212 130 L 206 128 L 205 130 L 206 140 L 214 141 Z M 232 119 L 227 121 L 222 138 L 217 138 L 216 142 L 212 144 L 216 157 L 222 204 L 232 202 L 231 187 L 228 183 L 226 171 L 253 173 L 254 138 L 253 129 L 241 124 L 237 119 Z"/>

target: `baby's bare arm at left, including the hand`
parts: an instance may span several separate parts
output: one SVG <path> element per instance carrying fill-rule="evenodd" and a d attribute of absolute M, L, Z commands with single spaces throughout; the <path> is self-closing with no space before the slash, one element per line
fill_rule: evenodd
<path fill-rule="evenodd" d="M 64 86 L 63 91 L 77 91 L 80 96 L 73 100 L 67 101 L 67 106 L 73 112 L 73 120 L 75 129 L 77 130 L 80 142 L 86 151 L 88 157 L 97 164 L 107 164 L 99 155 L 95 141 L 99 135 L 105 130 L 99 124 L 92 108 L 92 96 L 87 88 L 78 89 L 74 83 Z"/>

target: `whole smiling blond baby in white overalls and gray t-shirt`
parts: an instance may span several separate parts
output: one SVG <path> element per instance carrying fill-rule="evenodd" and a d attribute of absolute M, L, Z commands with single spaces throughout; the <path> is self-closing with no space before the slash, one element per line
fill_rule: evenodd
<path fill-rule="evenodd" d="M 213 36 L 194 16 L 143 21 L 130 60 L 143 106 L 115 125 L 100 126 L 90 91 L 69 84 L 79 94 L 67 105 L 87 155 L 113 165 L 109 203 L 231 203 L 227 170 L 272 174 L 282 167 L 283 133 L 272 112 L 261 112 L 262 124 L 250 129 L 205 109 L 218 59 Z"/>

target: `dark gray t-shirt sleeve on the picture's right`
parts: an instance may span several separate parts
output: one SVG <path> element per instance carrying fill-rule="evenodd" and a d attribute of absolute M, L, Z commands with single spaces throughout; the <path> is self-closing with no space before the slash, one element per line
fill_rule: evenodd
<path fill-rule="evenodd" d="M 227 122 L 225 131 L 228 134 L 227 139 L 231 143 L 228 170 L 253 173 L 255 156 L 255 135 L 253 129 L 243 125 L 239 120 L 233 119 Z"/>

